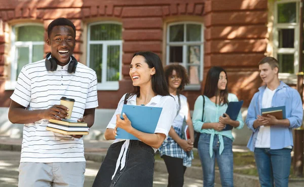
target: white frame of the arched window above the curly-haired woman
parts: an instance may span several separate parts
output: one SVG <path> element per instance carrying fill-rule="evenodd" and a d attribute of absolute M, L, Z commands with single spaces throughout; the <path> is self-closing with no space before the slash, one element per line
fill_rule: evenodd
<path fill-rule="evenodd" d="M 170 42 L 170 26 L 172 25 L 184 25 L 184 35 L 183 35 L 183 42 Z M 197 24 L 201 25 L 201 41 L 200 42 L 185 42 L 186 41 L 186 24 Z M 201 22 L 193 22 L 193 21 L 180 21 L 180 22 L 173 22 L 167 25 L 167 44 L 166 44 L 166 65 L 170 64 L 170 46 L 182 46 L 182 53 L 183 59 L 180 65 L 183 65 L 185 68 L 187 65 L 191 65 L 187 62 L 187 46 L 194 46 L 200 45 L 201 46 L 201 59 L 200 59 L 200 82 L 203 81 L 203 68 L 204 68 L 204 25 Z M 194 65 L 192 65 L 194 66 Z M 185 90 L 200 90 L 201 84 L 198 85 L 187 85 L 185 86 Z"/>

